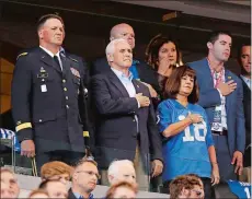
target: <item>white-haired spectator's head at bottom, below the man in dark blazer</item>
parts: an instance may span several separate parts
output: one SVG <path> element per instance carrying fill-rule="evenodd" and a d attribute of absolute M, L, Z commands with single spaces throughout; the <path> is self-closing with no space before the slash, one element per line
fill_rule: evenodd
<path fill-rule="evenodd" d="M 128 160 L 112 162 L 107 169 L 107 178 L 111 185 L 118 182 L 136 184 L 136 171 L 133 162 Z"/>

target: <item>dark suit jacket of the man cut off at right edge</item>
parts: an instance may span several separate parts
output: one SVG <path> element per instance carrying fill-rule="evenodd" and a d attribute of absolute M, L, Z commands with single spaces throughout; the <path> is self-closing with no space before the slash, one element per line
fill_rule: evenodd
<path fill-rule="evenodd" d="M 245 147 L 251 144 L 251 90 L 241 79 L 243 85 L 243 107 L 245 117 Z M 251 165 L 251 148 L 247 148 L 244 153 L 244 166 Z"/>

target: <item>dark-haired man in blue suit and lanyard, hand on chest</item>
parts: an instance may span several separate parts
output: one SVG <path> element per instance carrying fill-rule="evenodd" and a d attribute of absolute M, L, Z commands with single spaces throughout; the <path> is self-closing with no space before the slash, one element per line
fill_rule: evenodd
<path fill-rule="evenodd" d="M 241 175 L 245 147 L 242 83 L 224 66 L 231 43 L 228 33 L 214 32 L 207 43 L 207 58 L 188 63 L 196 71 L 198 104 L 205 108 L 211 126 L 221 180 L 236 179 L 234 173 Z"/>

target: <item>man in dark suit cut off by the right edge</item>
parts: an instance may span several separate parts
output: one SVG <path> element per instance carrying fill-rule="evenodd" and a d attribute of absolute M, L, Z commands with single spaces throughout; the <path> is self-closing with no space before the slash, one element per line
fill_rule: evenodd
<path fill-rule="evenodd" d="M 242 45 L 239 49 L 238 62 L 241 66 L 241 81 L 243 85 L 243 107 L 245 116 L 245 152 L 244 173 L 247 178 L 242 182 L 250 182 L 251 176 L 251 45 Z M 249 177 L 249 178 L 248 178 Z"/>

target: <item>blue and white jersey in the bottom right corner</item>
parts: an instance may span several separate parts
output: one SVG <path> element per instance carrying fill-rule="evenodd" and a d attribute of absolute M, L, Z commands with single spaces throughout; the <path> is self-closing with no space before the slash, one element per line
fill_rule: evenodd
<path fill-rule="evenodd" d="M 231 179 L 227 183 L 231 192 L 238 198 L 251 198 L 251 184 Z"/>

